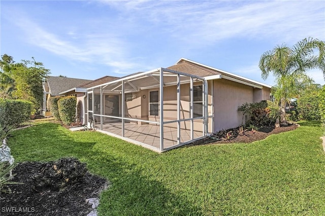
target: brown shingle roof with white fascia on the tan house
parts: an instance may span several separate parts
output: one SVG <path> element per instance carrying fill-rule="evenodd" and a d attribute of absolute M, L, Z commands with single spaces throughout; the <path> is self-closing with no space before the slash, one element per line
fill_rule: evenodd
<path fill-rule="evenodd" d="M 176 62 L 173 66 L 168 67 L 168 69 L 181 71 L 187 74 L 201 76 L 201 77 L 208 77 L 213 75 L 221 75 L 222 79 L 232 80 L 238 83 L 242 83 L 245 85 L 253 86 L 253 87 L 261 87 L 265 86 L 268 88 L 272 88 L 272 86 L 260 83 L 254 80 L 247 79 L 245 77 L 241 77 L 224 70 L 220 70 L 214 67 L 210 67 L 205 64 L 201 64 L 199 62 L 195 62 L 186 58 L 181 58 L 179 61 Z"/>

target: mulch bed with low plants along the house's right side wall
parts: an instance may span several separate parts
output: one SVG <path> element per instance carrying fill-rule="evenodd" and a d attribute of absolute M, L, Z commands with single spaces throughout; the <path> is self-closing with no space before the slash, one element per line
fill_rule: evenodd
<path fill-rule="evenodd" d="M 220 137 L 216 135 L 212 135 L 211 137 L 205 137 L 203 139 L 194 141 L 189 143 L 187 146 L 197 146 L 197 145 L 204 145 L 208 143 L 218 144 L 218 143 L 249 143 L 253 141 L 258 141 L 265 139 L 267 136 L 271 134 L 278 134 L 285 131 L 295 130 L 298 127 L 297 124 L 288 124 L 287 126 L 281 126 L 281 127 L 274 127 L 274 126 L 266 126 L 263 128 L 260 128 L 255 133 L 252 133 L 251 131 L 246 131 L 244 135 L 239 135 L 236 131 L 239 130 L 239 128 L 233 128 L 227 131 L 232 131 L 234 138 L 231 140 L 220 140 Z"/>

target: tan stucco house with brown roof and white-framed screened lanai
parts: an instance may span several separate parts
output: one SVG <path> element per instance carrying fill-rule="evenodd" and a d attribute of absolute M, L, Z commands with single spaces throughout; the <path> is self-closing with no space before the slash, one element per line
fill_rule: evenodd
<path fill-rule="evenodd" d="M 269 85 L 181 58 L 167 68 L 87 88 L 85 118 L 98 131 L 164 152 L 240 126 L 238 106 L 268 100 L 270 90 Z"/>

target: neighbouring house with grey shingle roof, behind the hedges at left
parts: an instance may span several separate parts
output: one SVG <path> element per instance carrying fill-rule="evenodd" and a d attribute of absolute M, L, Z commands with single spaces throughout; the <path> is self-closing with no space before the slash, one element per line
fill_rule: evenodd
<path fill-rule="evenodd" d="M 52 115 L 49 110 L 49 102 L 48 102 L 51 96 L 64 96 L 64 94 L 61 94 L 60 92 L 64 92 L 68 89 L 89 83 L 91 81 L 92 80 L 48 76 L 43 81 L 44 98 L 43 98 L 43 107 L 41 112 L 42 116 L 47 117 Z"/>

